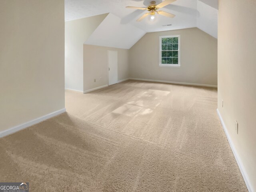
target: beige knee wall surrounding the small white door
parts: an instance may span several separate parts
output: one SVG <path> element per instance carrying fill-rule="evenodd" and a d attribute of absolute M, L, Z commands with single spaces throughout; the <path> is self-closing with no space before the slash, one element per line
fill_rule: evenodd
<path fill-rule="evenodd" d="M 118 81 L 130 77 L 129 50 L 84 44 L 85 91 L 108 84 L 108 50 L 118 51 Z"/>

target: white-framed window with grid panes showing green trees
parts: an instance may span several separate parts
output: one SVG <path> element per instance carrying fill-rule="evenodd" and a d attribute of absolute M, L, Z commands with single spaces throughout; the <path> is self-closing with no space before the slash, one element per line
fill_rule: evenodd
<path fill-rule="evenodd" d="M 159 66 L 180 67 L 180 35 L 160 36 Z"/>

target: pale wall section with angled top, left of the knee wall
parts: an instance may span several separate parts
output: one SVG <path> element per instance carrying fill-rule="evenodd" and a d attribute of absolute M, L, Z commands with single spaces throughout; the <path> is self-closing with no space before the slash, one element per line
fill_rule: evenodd
<path fill-rule="evenodd" d="M 65 88 L 83 91 L 83 44 L 107 15 L 65 22 Z"/>

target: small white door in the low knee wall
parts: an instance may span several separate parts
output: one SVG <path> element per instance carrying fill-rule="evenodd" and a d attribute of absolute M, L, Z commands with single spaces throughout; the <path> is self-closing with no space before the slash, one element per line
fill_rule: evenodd
<path fill-rule="evenodd" d="M 108 51 L 108 85 L 117 83 L 117 51 Z"/>

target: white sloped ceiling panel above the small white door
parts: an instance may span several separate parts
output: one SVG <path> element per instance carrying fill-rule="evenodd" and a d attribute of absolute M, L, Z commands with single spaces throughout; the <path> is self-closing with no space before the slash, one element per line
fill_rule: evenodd
<path fill-rule="evenodd" d="M 84 44 L 130 49 L 146 32 L 108 14 Z"/>

